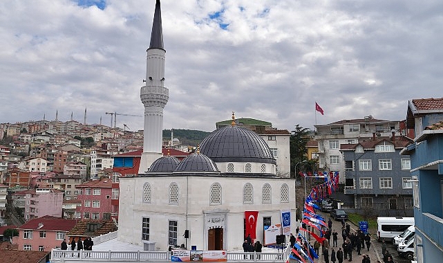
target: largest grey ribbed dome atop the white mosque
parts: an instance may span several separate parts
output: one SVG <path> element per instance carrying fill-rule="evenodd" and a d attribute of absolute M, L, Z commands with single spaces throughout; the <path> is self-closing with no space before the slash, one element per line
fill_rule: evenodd
<path fill-rule="evenodd" d="M 276 164 L 270 147 L 254 131 L 229 125 L 216 129 L 200 144 L 200 152 L 216 163 L 247 162 Z"/>

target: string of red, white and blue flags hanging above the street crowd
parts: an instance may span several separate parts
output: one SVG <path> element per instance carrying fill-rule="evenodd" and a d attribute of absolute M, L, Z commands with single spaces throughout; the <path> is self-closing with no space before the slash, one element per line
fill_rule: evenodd
<path fill-rule="evenodd" d="M 328 224 L 326 224 L 326 219 L 316 214 L 316 210 L 320 210 L 319 206 L 317 206 L 316 202 L 325 199 L 328 195 L 332 194 L 332 192 L 336 192 L 339 188 L 339 172 L 314 172 L 314 174 L 308 172 L 308 174 L 299 173 L 301 176 L 309 176 L 309 177 L 318 177 L 319 179 L 325 179 L 324 183 L 319 185 L 315 185 L 310 194 L 305 199 L 305 203 L 303 205 L 303 217 L 301 222 L 306 226 L 311 226 L 311 230 L 300 228 L 299 230 L 310 233 L 314 239 L 317 240 L 320 244 L 323 244 L 326 239 L 323 235 L 326 233 L 326 229 L 328 229 Z M 319 235 L 317 235 L 314 231 L 318 230 Z M 292 247 L 290 253 L 290 259 L 298 260 L 302 263 L 313 263 L 314 258 L 319 258 L 319 255 L 315 253 L 314 248 L 309 244 L 309 242 L 301 235 L 297 237 L 297 242 Z M 287 263 L 289 260 L 287 260 Z"/>

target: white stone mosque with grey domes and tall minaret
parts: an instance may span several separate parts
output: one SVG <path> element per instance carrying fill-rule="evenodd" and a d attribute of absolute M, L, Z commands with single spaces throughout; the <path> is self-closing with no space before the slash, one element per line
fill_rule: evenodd
<path fill-rule="evenodd" d="M 144 145 L 139 172 L 120 178 L 118 239 L 149 250 L 185 244 L 198 250 L 241 248 L 247 233 L 263 243 L 265 228 L 283 224 L 290 212 L 294 229 L 295 185 L 279 176 L 265 140 L 235 124 L 213 131 L 194 154 L 178 161 L 162 156 L 165 53 L 160 0 L 155 3 L 147 49 Z M 288 214 L 285 214 L 288 215 Z"/>

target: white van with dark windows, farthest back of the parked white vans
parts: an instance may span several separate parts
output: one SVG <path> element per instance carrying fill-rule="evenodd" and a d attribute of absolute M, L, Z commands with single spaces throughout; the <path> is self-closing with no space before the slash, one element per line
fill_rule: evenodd
<path fill-rule="evenodd" d="M 414 225 L 414 217 L 377 217 L 377 239 L 393 242 L 395 236 Z"/>

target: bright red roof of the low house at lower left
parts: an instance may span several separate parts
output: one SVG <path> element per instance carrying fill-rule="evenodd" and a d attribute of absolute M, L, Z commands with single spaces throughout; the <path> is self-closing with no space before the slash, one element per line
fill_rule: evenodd
<path fill-rule="evenodd" d="M 77 220 L 75 219 L 62 219 L 59 217 L 51 217 L 45 215 L 44 217 L 39 217 L 31 219 L 25 224 L 21 225 L 19 229 L 32 229 L 32 230 L 47 230 L 47 231 L 69 231 L 71 230 Z M 40 224 L 43 226 L 39 227 Z"/>

